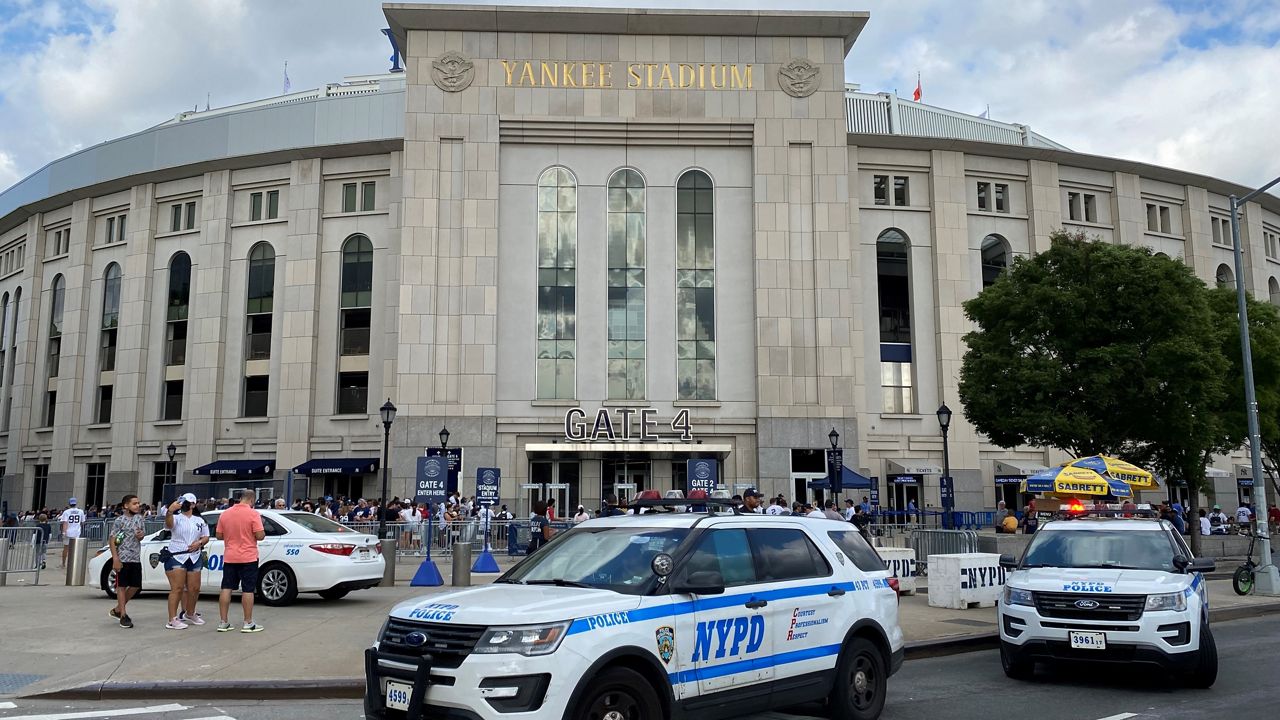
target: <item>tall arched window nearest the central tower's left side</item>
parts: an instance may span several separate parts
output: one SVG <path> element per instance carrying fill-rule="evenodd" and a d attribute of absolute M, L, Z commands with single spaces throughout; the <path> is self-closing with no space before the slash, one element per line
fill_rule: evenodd
<path fill-rule="evenodd" d="M 342 243 L 339 354 L 369 355 L 374 305 L 374 243 L 353 234 Z M 369 413 L 369 372 L 338 370 L 338 414 Z"/>

